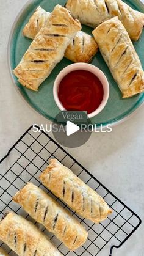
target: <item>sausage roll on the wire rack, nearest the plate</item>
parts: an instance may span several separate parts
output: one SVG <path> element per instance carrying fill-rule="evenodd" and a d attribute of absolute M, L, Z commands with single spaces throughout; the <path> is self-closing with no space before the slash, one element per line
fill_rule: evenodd
<path fill-rule="evenodd" d="M 101 196 L 56 159 L 51 159 L 49 166 L 40 175 L 40 180 L 84 218 L 98 223 L 112 213 Z"/>

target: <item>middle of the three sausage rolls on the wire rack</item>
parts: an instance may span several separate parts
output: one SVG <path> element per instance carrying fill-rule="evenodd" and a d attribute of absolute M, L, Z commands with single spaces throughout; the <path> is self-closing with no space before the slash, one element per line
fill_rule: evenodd
<path fill-rule="evenodd" d="M 14 197 L 35 221 L 54 233 L 68 249 L 75 250 L 87 240 L 87 231 L 66 210 L 40 188 L 27 183 Z"/>

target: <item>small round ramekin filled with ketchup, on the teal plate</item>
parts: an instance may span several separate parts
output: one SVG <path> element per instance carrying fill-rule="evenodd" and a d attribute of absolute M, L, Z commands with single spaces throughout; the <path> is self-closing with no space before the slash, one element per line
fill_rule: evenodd
<path fill-rule="evenodd" d="M 60 111 L 87 111 L 88 118 L 92 118 L 107 104 L 109 81 L 98 67 L 74 63 L 57 75 L 53 95 Z"/>

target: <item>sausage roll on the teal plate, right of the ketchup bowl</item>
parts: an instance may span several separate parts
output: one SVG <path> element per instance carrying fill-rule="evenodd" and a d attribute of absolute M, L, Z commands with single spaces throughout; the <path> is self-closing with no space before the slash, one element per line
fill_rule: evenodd
<path fill-rule="evenodd" d="M 129 35 L 118 17 L 105 21 L 92 33 L 123 98 L 143 92 L 142 65 Z"/>

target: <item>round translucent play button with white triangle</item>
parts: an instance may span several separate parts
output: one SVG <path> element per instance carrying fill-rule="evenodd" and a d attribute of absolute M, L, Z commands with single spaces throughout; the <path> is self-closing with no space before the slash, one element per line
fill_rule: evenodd
<path fill-rule="evenodd" d="M 87 129 L 90 124 L 87 112 L 65 110 L 56 115 L 52 123 L 52 133 L 59 144 L 76 148 L 88 141 L 92 133 Z"/>

